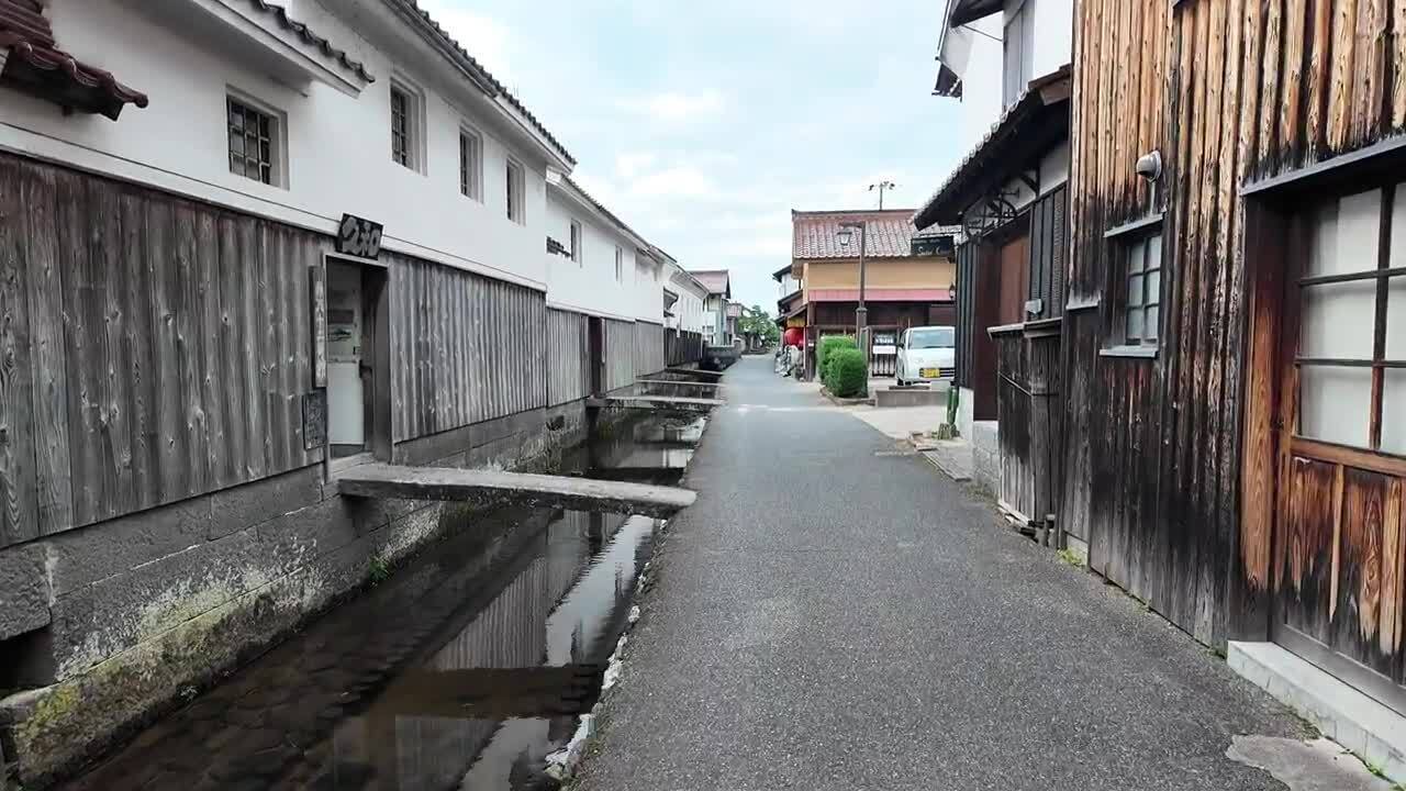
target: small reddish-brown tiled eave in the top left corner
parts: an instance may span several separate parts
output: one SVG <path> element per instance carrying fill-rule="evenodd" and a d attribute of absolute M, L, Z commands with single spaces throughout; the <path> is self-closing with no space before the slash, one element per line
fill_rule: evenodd
<path fill-rule="evenodd" d="M 115 121 L 127 104 L 148 104 L 145 93 L 59 49 L 53 27 L 34 0 L 0 0 L 0 49 L 10 51 L 0 82 L 62 107 Z"/>

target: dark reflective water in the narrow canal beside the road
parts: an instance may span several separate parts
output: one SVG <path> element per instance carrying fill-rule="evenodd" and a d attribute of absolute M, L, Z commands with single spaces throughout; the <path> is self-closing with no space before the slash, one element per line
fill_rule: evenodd
<path fill-rule="evenodd" d="M 568 459 L 678 481 L 702 419 Z M 658 519 L 502 511 L 429 548 L 72 781 L 93 791 L 522 791 L 595 705 Z"/>

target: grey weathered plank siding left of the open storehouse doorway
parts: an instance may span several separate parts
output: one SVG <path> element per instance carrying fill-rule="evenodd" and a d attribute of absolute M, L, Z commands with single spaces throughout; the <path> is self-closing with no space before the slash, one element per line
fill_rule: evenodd
<path fill-rule="evenodd" d="M 0 546 L 321 459 L 325 242 L 0 153 Z"/>

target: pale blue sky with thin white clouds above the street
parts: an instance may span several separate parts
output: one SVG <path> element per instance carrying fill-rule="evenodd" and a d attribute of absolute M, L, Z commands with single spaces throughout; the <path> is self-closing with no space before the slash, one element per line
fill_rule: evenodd
<path fill-rule="evenodd" d="M 956 160 L 941 0 L 419 0 L 685 269 L 775 312 L 790 211 L 917 208 Z"/>

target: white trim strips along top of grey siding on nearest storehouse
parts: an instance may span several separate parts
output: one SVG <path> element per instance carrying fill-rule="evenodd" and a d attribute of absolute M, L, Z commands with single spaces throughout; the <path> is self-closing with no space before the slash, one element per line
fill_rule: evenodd
<path fill-rule="evenodd" d="M 4 121 L 0 121 L 0 151 L 28 159 L 49 162 L 60 167 L 70 167 L 84 173 L 129 182 L 181 197 L 211 203 L 224 208 L 240 211 L 243 214 L 252 214 L 274 222 L 283 222 L 284 225 L 291 225 L 294 228 L 323 234 L 329 241 L 336 236 L 337 227 L 342 222 L 340 217 L 326 217 L 281 203 L 277 198 L 287 198 L 285 190 L 254 182 L 253 179 L 240 179 L 242 182 L 249 182 L 247 184 L 240 184 L 249 187 L 249 191 L 232 190 L 222 184 L 212 184 L 190 176 L 183 176 L 180 173 L 173 173 L 170 170 L 114 156 Z M 461 269 L 474 274 L 482 274 L 484 277 L 491 277 L 494 280 L 526 286 L 536 291 L 547 290 L 546 281 L 523 277 L 486 263 L 470 260 L 444 251 L 427 248 L 425 245 L 418 245 L 391 234 L 382 236 L 381 246 L 392 252 L 422 258 L 432 263 Z"/>

